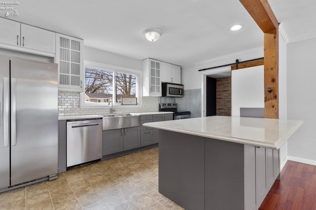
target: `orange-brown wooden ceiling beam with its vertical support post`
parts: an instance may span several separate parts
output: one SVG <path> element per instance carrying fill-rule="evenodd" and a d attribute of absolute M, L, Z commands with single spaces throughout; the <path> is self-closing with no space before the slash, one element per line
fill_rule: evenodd
<path fill-rule="evenodd" d="M 278 22 L 268 0 L 239 0 L 264 32 L 265 118 L 278 119 Z"/>

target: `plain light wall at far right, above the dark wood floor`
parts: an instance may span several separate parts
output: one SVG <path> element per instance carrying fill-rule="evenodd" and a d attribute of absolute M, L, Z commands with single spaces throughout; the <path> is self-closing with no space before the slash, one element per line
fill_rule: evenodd
<path fill-rule="evenodd" d="M 304 124 L 289 138 L 289 159 L 316 165 L 316 38 L 287 45 L 287 118 Z"/>

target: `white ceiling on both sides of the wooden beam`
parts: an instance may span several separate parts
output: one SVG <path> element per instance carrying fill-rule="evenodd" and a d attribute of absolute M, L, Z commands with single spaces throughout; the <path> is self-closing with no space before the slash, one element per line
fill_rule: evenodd
<path fill-rule="evenodd" d="M 316 36 L 315 0 L 269 2 L 287 41 Z M 11 20 L 139 60 L 184 66 L 263 46 L 262 31 L 238 0 L 23 0 L 14 9 L 19 16 Z M 235 24 L 244 27 L 230 31 Z M 146 40 L 148 28 L 162 30 L 158 41 Z"/>

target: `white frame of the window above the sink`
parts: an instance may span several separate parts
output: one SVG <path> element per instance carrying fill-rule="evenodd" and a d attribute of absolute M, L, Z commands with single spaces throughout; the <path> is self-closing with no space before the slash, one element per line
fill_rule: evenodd
<path fill-rule="evenodd" d="M 113 71 L 114 72 L 114 80 L 115 80 L 115 72 L 120 72 L 120 73 L 127 73 L 127 74 L 134 74 L 136 75 L 136 97 L 138 104 L 137 105 L 121 105 L 120 103 L 116 103 L 116 94 L 115 94 L 115 89 L 113 89 L 113 107 L 116 108 L 139 108 L 142 107 L 142 71 L 138 69 L 132 69 L 132 68 L 126 68 L 122 66 L 116 66 L 116 65 L 109 65 L 105 63 L 98 63 L 98 62 L 93 62 L 89 60 L 84 60 L 84 87 L 83 87 L 83 92 L 80 92 L 80 108 L 86 108 L 86 109 L 98 109 L 98 108 L 111 108 L 111 104 L 108 105 L 108 102 L 98 102 L 95 104 L 87 103 L 84 100 L 84 94 L 85 94 L 85 68 L 96 68 L 100 70 L 105 70 L 105 71 Z M 113 84 L 115 86 L 116 83 Z M 113 87 L 114 88 L 114 87 Z"/>

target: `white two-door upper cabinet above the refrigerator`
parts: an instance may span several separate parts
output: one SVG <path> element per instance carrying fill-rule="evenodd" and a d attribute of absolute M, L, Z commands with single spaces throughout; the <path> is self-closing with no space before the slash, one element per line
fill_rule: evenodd
<path fill-rule="evenodd" d="M 55 32 L 5 18 L 0 18 L 0 25 L 0 43 L 46 53 L 55 53 Z"/>

